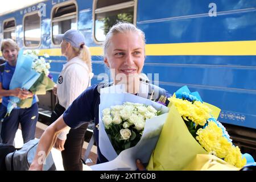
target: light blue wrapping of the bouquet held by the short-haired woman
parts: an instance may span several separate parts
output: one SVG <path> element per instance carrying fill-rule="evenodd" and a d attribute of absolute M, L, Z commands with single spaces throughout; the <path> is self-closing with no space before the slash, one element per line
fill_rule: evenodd
<path fill-rule="evenodd" d="M 23 55 L 23 49 L 20 49 L 15 71 L 10 82 L 10 90 L 15 88 L 30 89 L 31 86 L 38 80 L 40 73 L 32 69 L 32 63 L 35 57 L 32 55 Z M 7 105 L 7 115 L 11 113 L 20 99 L 15 96 L 10 96 L 9 103 Z"/>

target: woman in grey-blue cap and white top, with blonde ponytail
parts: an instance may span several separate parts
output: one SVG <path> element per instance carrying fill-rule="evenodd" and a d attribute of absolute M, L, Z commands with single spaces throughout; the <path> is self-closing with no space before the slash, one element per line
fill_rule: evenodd
<path fill-rule="evenodd" d="M 57 80 L 53 92 L 57 94 L 55 111 L 51 115 L 52 122 L 59 118 L 72 102 L 90 86 L 93 77 L 92 61 L 88 47 L 85 46 L 84 35 L 77 30 L 68 30 L 57 35 L 61 41 L 61 54 L 67 63 Z M 55 142 L 55 148 L 61 151 L 63 166 L 66 171 L 81 171 L 81 151 L 88 123 L 77 129 L 68 128 L 62 131 Z"/>

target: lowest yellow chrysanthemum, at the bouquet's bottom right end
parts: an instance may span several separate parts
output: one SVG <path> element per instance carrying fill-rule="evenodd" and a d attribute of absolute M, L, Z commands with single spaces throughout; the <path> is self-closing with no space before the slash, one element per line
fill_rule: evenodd
<path fill-rule="evenodd" d="M 229 154 L 224 160 L 238 168 L 242 168 L 246 164 L 246 159 L 242 158 L 242 154 L 238 146 L 232 146 L 232 148 L 229 150 Z"/>

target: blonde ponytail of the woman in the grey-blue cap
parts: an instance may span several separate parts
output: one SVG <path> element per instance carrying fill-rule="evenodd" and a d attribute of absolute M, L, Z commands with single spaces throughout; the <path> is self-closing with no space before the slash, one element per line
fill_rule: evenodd
<path fill-rule="evenodd" d="M 92 73 L 92 57 L 90 56 L 90 51 L 87 46 L 81 44 L 80 49 L 72 47 L 73 51 L 81 57 L 81 59 L 86 63 L 89 68 L 89 72 Z"/>

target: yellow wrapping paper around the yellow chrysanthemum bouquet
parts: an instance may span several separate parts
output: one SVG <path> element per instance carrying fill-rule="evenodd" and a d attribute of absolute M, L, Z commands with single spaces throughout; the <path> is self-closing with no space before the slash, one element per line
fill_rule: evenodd
<path fill-rule="evenodd" d="M 218 118 L 220 109 L 204 103 L 212 109 L 214 118 Z M 237 170 L 217 157 L 217 164 L 210 163 L 213 155 L 207 151 L 189 133 L 179 111 L 170 103 L 166 122 L 152 152 L 147 170 Z M 201 154 L 201 155 L 198 155 Z M 231 166 L 231 167 L 230 167 Z"/>

